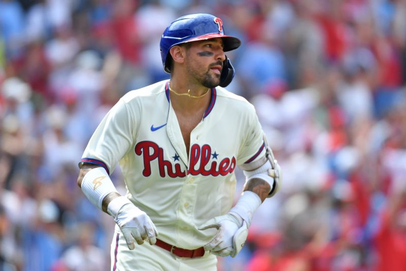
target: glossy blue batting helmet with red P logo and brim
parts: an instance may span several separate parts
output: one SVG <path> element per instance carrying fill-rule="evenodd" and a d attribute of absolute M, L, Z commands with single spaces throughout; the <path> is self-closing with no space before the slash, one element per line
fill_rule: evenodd
<path fill-rule="evenodd" d="M 222 38 L 224 51 L 234 50 L 241 45 L 238 38 L 224 35 L 223 21 L 211 14 L 197 13 L 182 16 L 173 21 L 162 34 L 160 49 L 163 70 L 170 73 L 172 46 L 181 43 Z"/>

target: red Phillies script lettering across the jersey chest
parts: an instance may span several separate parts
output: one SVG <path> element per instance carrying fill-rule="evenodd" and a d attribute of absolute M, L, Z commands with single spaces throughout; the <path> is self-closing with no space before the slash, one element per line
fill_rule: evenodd
<path fill-rule="evenodd" d="M 186 172 L 181 169 L 179 163 L 172 164 L 171 161 L 163 159 L 163 149 L 155 142 L 141 141 L 137 143 L 134 150 L 138 156 L 143 156 L 144 176 L 148 177 L 151 175 L 151 162 L 156 159 L 158 161 L 159 175 L 161 177 L 165 177 L 166 174 L 172 178 L 186 176 Z M 225 176 L 234 171 L 236 163 L 234 157 L 231 159 L 226 157 L 220 162 L 214 160 L 209 165 L 211 155 L 212 148 L 208 144 L 202 145 L 201 147 L 198 144 L 193 144 L 190 148 L 190 161 L 187 174 Z"/>

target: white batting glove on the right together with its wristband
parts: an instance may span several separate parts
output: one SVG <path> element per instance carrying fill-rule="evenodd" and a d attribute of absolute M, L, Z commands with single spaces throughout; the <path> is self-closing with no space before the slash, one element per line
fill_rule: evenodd
<path fill-rule="evenodd" d="M 230 212 L 201 225 L 199 230 L 218 229 L 214 238 L 204 246 L 205 250 L 210 250 L 217 256 L 235 257 L 246 242 L 252 214 L 261 203 L 256 193 L 245 191 Z"/>

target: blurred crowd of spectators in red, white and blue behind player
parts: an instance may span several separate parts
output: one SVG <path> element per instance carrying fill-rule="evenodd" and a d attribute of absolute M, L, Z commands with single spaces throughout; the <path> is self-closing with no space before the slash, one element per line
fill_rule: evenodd
<path fill-rule="evenodd" d="M 406 270 L 405 0 L 0 0 L 0 270 L 109 269 L 78 162 L 122 95 L 168 78 L 159 39 L 189 13 L 243 41 L 227 88 L 284 173 L 219 270 Z"/>

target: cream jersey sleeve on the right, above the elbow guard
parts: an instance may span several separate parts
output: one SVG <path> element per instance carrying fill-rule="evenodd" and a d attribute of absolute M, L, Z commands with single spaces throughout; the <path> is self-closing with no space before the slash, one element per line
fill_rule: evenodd
<path fill-rule="evenodd" d="M 253 170 L 265 163 L 264 133 L 253 106 L 248 111 L 244 137 L 239 150 L 237 164 L 244 170 Z"/>

